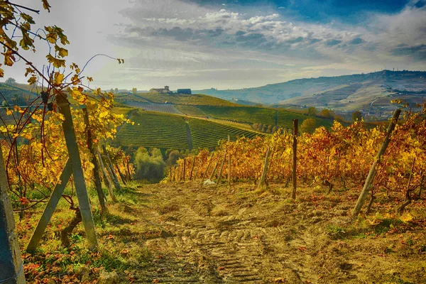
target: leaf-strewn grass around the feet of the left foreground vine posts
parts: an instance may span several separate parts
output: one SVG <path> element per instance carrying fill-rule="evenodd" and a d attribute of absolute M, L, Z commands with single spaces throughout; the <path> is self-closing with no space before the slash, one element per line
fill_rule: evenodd
<path fill-rule="evenodd" d="M 18 222 L 17 232 L 28 283 L 48 283 L 43 282 L 43 279 L 54 281 L 53 283 L 80 283 L 77 274 L 83 266 L 89 269 L 91 278 L 99 274 L 101 269 L 127 275 L 126 271 L 135 266 L 138 268 L 149 266 L 153 260 L 153 254 L 135 237 L 144 234 L 145 231 L 138 226 L 131 225 L 132 222 L 137 222 L 137 219 L 126 213 L 124 208 L 126 204 L 133 204 L 137 199 L 138 192 L 135 187 L 136 184 L 132 184 L 124 186 L 121 192 L 116 191 L 119 204 L 108 204 L 109 213 L 104 217 L 99 215 L 96 191 L 89 188 L 88 193 L 99 241 L 98 252 L 87 249 L 84 227 L 81 222 L 70 236 L 70 246 L 62 246 L 59 231 L 75 215 L 74 211 L 68 209 L 69 204 L 63 199 L 60 200 L 37 251 L 35 253 L 26 252 L 25 246 L 28 244 L 29 237 L 35 229 L 45 204 L 42 203 L 25 212 L 23 219 L 25 222 Z M 72 189 L 67 188 L 65 194 L 71 195 Z M 76 197 L 74 199 L 77 200 Z M 15 218 L 19 219 L 17 214 Z M 138 245 L 129 246 L 130 239 Z M 121 280 L 130 283 L 131 278 L 127 278 L 129 277 Z"/>

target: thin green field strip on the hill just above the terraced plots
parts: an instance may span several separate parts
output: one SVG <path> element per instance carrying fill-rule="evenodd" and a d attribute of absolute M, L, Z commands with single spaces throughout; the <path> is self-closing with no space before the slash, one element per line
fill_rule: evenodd
<path fill-rule="evenodd" d="M 229 119 L 231 121 L 246 122 L 249 124 L 268 124 L 275 126 L 275 121 L 279 127 L 292 128 L 293 119 L 298 119 L 301 124 L 305 119 L 310 118 L 305 114 L 292 111 L 266 109 L 261 107 L 198 107 L 207 116 L 215 119 Z M 277 116 L 278 113 L 278 116 Z M 321 119 L 313 117 L 317 121 L 317 126 L 332 126 L 332 119 Z"/>

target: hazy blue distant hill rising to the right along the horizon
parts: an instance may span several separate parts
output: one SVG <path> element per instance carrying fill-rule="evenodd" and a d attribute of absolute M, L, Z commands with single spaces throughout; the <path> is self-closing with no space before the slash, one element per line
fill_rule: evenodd
<path fill-rule="evenodd" d="M 391 99 L 411 103 L 426 98 L 426 72 L 383 70 L 368 74 L 292 80 L 245 89 L 194 91 L 221 99 L 239 99 L 283 107 L 320 107 L 337 111 L 388 111 Z"/>

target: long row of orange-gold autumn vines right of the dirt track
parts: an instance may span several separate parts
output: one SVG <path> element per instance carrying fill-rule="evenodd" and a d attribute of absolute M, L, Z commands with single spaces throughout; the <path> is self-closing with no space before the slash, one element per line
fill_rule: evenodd
<path fill-rule="evenodd" d="M 331 130 L 320 127 L 312 135 L 302 133 L 297 137 L 295 176 L 306 186 L 326 185 L 327 192 L 348 185 L 361 187 L 376 161 L 368 210 L 377 195 L 386 195 L 390 199 L 403 197 L 404 202 L 399 204 L 399 210 L 403 212 L 413 196 L 420 197 L 425 187 L 425 114 L 425 106 L 416 114 L 406 112 L 395 127 L 386 155 L 380 158 L 376 155 L 386 138 L 384 127 L 365 129 L 358 122 L 344 127 L 335 121 Z M 280 131 L 270 137 L 224 141 L 215 153 L 201 151 L 198 155 L 179 160 L 178 168 L 170 172 L 168 180 L 190 180 L 201 175 L 214 177 L 214 174 L 220 179 L 222 174 L 234 181 L 258 182 L 265 170 L 267 182 L 288 185 L 293 179 L 293 138 L 293 133 Z M 229 163 L 224 163 L 225 157 L 228 157 Z M 194 163 L 198 176 L 193 175 L 194 168 L 184 166 L 186 161 L 188 165 Z M 219 170 L 217 167 L 221 161 Z"/>

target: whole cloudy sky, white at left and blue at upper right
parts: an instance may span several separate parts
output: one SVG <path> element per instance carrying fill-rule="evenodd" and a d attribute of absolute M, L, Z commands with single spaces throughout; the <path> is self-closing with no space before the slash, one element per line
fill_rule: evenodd
<path fill-rule="evenodd" d="M 41 1 L 13 3 L 42 9 Z M 426 0 L 50 0 L 37 26 L 70 40 L 90 87 L 240 89 L 305 77 L 426 70 Z M 45 64 L 46 43 L 28 53 Z M 22 62 L 5 77 L 24 82 Z"/>

